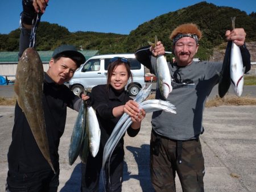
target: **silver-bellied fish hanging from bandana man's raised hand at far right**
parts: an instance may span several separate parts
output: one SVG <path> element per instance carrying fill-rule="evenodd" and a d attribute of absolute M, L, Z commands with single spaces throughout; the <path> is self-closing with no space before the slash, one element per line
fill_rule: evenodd
<path fill-rule="evenodd" d="M 236 17 L 232 18 L 232 28 L 235 28 Z M 243 60 L 238 47 L 234 42 L 232 42 L 231 54 L 230 54 L 230 80 L 233 87 L 234 93 L 238 97 L 242 95 L 243 92 L 243 74 L 245 73 L 245 67 L 243 67 Z"/>

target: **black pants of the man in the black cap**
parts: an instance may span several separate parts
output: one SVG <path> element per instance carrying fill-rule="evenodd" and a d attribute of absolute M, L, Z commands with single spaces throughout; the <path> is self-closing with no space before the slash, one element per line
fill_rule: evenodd
<path fill-rule="evenodd" d="M 40 170 L 32 173 L 8 172 L 6 191 L 37 191 L 55 192 L 59 186 L 60 170 L 56 174 L 52 169 Z"/>

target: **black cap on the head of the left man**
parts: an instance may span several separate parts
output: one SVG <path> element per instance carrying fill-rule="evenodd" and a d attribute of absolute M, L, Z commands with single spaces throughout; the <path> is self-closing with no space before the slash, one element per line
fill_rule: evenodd
<path fill-rule="evenodd" d="M 74 60 L 77 66 L 80 66 L 85 62 L 84 55 L 77 51 L 76 47 L 73 45 L 60 45 L 60 47 L 57 47 L 52 53 L 52 58 L 57 58 L 59 56 L 66 56 Z"/>

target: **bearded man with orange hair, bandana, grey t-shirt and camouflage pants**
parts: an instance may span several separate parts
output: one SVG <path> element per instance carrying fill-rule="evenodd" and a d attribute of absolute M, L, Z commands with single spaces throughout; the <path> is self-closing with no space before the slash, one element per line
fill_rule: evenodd
<path fill-rule="evenodd" d="M 235 28 L 225 35 L 240 46 L 246 73 L 250 70 L 250 53 L 245 47 L 245 31 Z M 176 191 L 176 173 L 183 191 L 204 191 L 205 168 L 199 136 L 204 132 L 205 102 L 220 80 L 222 62 L 193 61 L 201 36 L 193 23 L 181 24 L 170 35 L 176 62 L 168 66 L 173 89 L 167 101 L 176 106 L 177 114 L 165 111 L 152 114 L 150 169 L 155 191 Z M 156 56 L 164 53 L 163 44 L 158 41 L 155 47 L 140 48 L 135 56 L 156 74 Z M 164 99 L 159 87 L 156 87 L 156 99 Z"/>

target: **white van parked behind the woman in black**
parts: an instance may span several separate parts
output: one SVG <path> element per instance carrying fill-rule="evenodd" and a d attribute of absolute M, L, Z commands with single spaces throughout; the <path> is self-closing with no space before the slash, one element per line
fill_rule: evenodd
<path fill-rule="evenodd" d="M 144 81 L 144 66 L 135 59 L 134 54 L 113 54 L 98 55 L 90 57 L 84 64 L 76 70 L 74 76 L 69 81 L 69 89 L 76 95 L 80 95 L 84 89 L 90 90 L 96 85 L 106 84 L 108 65 L 113 57 L 125 57 L 129 60 L 133 82 L 128 81 L 126 89 L 131 96 L 136 96 L 146 83 Z"/>

